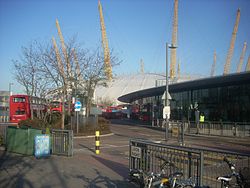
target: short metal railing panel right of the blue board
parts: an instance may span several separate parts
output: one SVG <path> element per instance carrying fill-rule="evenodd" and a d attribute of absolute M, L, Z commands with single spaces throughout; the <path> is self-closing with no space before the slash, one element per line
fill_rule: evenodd
<path fill-rule="evenodd" d="M 73 131 L 51 131 L 51 149 L 53 155 L 73 156 Z"/>

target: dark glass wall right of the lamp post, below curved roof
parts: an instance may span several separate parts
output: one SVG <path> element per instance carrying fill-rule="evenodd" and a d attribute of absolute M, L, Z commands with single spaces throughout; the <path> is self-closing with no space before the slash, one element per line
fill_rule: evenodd
<path fill-rule="evenodd" d="M 172 94 L 173 119 L 194 120 L 193 106 L 209 121 L 250 122 L 250 85 L 225 86 Z"/>

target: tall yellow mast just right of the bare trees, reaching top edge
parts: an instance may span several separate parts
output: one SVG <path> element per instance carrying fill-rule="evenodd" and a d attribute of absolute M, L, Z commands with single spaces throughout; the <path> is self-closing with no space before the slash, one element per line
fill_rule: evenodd
<path fill-rule="evenodd" d="M 98 0 L 98 9 L 99 9 L 99 14 L 100 14 L 100 23 L 101 23 L 101 32 L 102 32 L 102 47 L 104 51 L 105 75 L 110 81 L 112 80 L 112 67 L 110 63 L 110 51 L 109 51 L 108 39 L 107 39 L 104 17 L 103 17 L 103 12 L 102 12 L 102 5 L 101 5 L 100 0 Z"/>

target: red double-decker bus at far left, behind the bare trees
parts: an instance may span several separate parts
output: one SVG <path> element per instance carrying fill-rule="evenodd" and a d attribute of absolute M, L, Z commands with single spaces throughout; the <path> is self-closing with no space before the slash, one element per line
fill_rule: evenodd
<path fill-rule="evenodd" d="M 47 110 L 46 100 L 28 95 L 10 96 L 10 122 L 18 123 L 21 120 L 34 117 Z"/>

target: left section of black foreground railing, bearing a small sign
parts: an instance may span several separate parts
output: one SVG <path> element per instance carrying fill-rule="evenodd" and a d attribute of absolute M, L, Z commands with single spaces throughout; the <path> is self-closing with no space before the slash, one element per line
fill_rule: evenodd
<path fill-rule="evenodd" d="M 189 148 L 163 145 L 145 140 L 130 140 L 129 168 L 145 172 L 160 172 L 163 158 L 174 163 L 176 168 L 164 169 L 167 174 L 181 170 L 184 179 L 193 177 L 197 185 L 202 184 L 203 153 Z"/>

